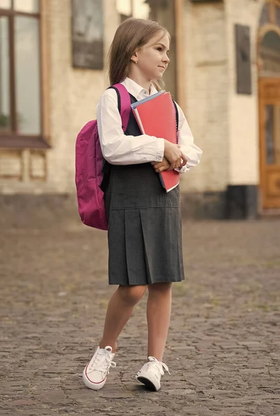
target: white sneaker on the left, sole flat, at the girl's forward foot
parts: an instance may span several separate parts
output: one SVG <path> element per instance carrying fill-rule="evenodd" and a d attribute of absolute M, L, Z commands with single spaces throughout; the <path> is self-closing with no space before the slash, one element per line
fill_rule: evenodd
<path fill-rule="evenodd" d="M 100 390 L 103 387 L 110 367 L 116 366 L 116 363 L 112 361 L 114 355 L 112 347 L 97 347 L 93 358 L 91 358 L 91 361 L 83 371 L 83 381 L 86 387 L 93 390 Z"/>

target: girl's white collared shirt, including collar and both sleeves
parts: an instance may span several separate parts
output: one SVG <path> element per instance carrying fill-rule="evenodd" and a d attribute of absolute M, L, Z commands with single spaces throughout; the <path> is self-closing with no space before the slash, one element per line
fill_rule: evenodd
<path fill-rule="evenodd" d="M 135 81 L 126 78 L 122 84 L 138 101 L 156 94 L 151 85 L 147 91 Z M 202 150 L 194 144 L 194 137 L 184 113 L 178 107 L 178 144 L 187 157 L 187 165 L 178 169 L 181 173 L 200 162 Z M 122 130 L 122 120 L 118 111 L 118 96 L 113 88 L 106 89 L 97 104 L 97 127 L 104 159 L 115 165 L 161 162 L 165 151 L 165 141 L 149 135 L 126 136 Z"/>

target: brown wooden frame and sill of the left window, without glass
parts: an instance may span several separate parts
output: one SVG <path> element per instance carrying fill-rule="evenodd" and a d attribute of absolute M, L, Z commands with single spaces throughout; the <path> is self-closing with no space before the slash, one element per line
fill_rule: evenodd
<path fill-rule="evenodd" d="M 0 8 L 0 16 L 8 17 L 8 47 L 9 47 L 9 75 L 10 75 L 10 130 L 0 131 L 0 148 L 32 148 L 32 149 L 44 149 L 50 148 L 50 144 L 46 139 L 46 132 L 44 132 L 44 78 L 46 74 L 43 73 L 44 69 L 44 51 L 42 44 L 42 35 L 44 27 L 42 24 L 42 9 L 45 0 L 39 0 L 38 12 L 23 12 L 14 10 L 14 0 L 11 1 L 11 8 Z M 25 135 L 17 132 L 17 103 L 16 103 L 16 85 L 15 85 L 15 17 L 16 16 L 28 16 L 35 17 L 39 23 L 39 93 L 40 93 L 40 134 L 39 135 Z M 45 133 L 45 134 L 44 134 Z"/>

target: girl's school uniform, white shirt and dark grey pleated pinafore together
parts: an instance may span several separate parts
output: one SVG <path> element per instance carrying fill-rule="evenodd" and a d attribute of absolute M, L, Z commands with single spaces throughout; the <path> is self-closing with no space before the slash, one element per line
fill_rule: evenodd
<path fill-rule="evenodd" d="M 133 80 L 122 83 L 131 103 L 149 96 Z M 156 89 L 151 86 L 150 94 Z M 104 164 L 106 215 L 109 222 L 109 284 L 147 285 L 181 281 L 184 277 L 179 186 L 162 188 L 151 162 L 164 155 L 164 139 L 142 135 L 131 111 L 122 131 L 118 96 L 107 89 L 97 105 L 97 125 Z M 178 143 L 187 156 L 187 171 L 201 150 L 178 106 Z"/>

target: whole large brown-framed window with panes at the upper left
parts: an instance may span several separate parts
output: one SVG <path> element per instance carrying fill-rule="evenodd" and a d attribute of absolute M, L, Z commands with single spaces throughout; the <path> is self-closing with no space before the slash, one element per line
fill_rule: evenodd
<path fill-rule="evenodd" d="M 39 0 L 0 0 L 0 147 L 48 147 L 39 40 Z"/>

